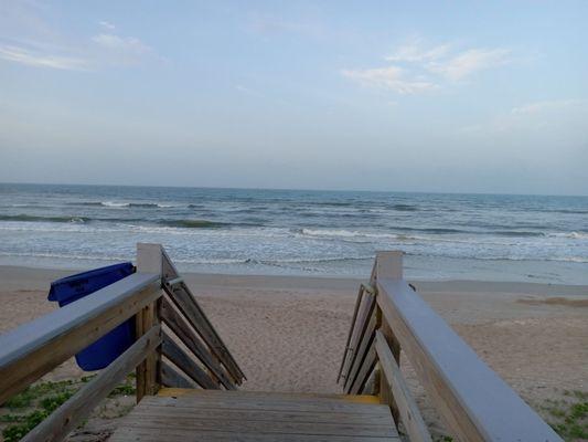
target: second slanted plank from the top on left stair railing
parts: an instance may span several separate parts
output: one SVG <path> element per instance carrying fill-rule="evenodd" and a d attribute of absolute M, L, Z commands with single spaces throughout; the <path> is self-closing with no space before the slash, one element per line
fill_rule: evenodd
<path fill-rule="evenodd" d="M 175 312 L 168 299 L 161 303 L 161 318 L 182 343 L 199 358 L 227 390 L 234 390 L 235 385 L 228 379 L 223 368 L 213 360 L 209 349 L 196 336 L 192 336 L 188 322 Z"/>

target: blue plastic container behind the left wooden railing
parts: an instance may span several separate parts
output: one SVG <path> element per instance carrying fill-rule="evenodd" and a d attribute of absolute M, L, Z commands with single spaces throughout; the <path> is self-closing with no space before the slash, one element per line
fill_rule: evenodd
<path fill-rule="evenodd" d="M 135 273 L 135 267 L 126 262 L 67 276 L 51 283 L 47 299 L 56 301 L 63 307 L 131 273 Z M 99 370 L 120 356 L 133 341 L 135 318 L 130 318 L 79 351 L 75 359 L 85 371 Z"/>

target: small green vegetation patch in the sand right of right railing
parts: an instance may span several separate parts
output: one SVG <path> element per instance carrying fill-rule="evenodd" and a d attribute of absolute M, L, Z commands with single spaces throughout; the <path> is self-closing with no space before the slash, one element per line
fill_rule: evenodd
<path fill-rule="evenodd" d="M 588 392 L 564 390 L 564 396 L 541 407 L 547 422 L 566 441 L 588 439 Z"/>

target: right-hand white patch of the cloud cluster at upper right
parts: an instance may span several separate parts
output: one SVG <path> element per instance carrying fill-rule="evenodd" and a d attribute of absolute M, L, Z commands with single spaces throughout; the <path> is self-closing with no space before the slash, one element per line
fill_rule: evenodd
<path fill-rule="evenodd" d="M 510 50 L 471 49 L 457 55 L 429 63 L 426 69 L 439 73 L 449 80 L 462 80 L 478 71 L 483 71 L 509 63 Z"/>

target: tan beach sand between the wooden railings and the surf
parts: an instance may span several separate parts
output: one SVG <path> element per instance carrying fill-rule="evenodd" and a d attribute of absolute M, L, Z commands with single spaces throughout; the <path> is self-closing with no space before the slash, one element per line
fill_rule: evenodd
<path fill-rule="evenodd" d="M 71 273 L 0 267 L 0 332 L 55 308 L 46 301 L 49 284 Z M 335 377 L 359 280 L 184 276 L 247 376 L 244 389 L 340 392 Z M 414 284 L 539 412 L 546 400 L 559 399 L 567 390 L 588 390 L 588 287 L 470 281 Z M 403 366 L 427 422 L 442 433 L 408 361 L 403 359 Z M 78 376 L 82 371 L 67 361 L 45 378 Z M 116 422 L 90 420 L 73 440 L 104 440 Z"/>

